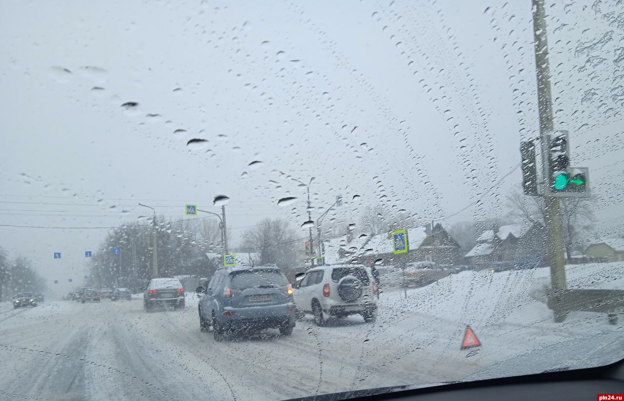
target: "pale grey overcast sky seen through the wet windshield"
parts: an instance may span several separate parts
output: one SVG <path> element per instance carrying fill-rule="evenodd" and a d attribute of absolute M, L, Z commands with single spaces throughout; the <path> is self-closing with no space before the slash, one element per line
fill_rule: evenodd
<path fill-rule="evenodd" d="M 555 127 L 619 233 L 621 11 L 547 3 Z M 236 244 L 268 216 L 299 229 L 291 177 L 311 176 L 313 219 L 341 194 L 341 221 L 375 205 L 478 220 L 506 213 L 538 135 L 528 0 L 4 1 L 0 34 L 4 225 L 116 226 L 150 215 L 139 202 L 177 218 L 227 195 Z M 0 246 L 66 283 L 105 233 L 2 226 Z"/>

